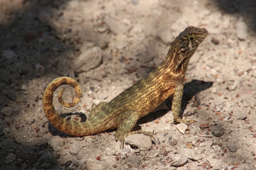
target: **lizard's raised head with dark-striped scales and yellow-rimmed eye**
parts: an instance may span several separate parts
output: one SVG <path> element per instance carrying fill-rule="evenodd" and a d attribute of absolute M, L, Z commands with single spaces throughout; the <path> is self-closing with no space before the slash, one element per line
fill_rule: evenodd
<path fill-rule="evenodd" d="M 188 26 L 174 41 L 180 41 L 177 43 L 180 45 L 178 47 L 180 52 L 184 54 L 185 58 L 190 58 L 207 35 L 208 31 L 205 28 Z"/>

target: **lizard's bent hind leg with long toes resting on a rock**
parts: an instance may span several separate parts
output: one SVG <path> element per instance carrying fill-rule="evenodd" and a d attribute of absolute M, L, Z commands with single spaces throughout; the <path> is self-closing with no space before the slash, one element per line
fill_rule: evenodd
<path fill-rule="evenodd" d="M 138 112 L 133 111 L 133 110 L 125 111 L 125 112 L 121 113 L 120 118 L 122 118 L 123 120 L 122 120 L 121 124 L 119 125 L 119 127 L 117 128 L 117 131 L 115 133 L 115 140 L 121 141 L 122 147 L 124 144 L 124 138 L 126 138 L 130 135 L 136 134 L 136 133 L 142 133 L 144 135 L 150 136 L 155 141 L 154 135 L 150 131 L 142 131 L 142 130 L 132 131 L 136 122 L 139 119 Z"/>

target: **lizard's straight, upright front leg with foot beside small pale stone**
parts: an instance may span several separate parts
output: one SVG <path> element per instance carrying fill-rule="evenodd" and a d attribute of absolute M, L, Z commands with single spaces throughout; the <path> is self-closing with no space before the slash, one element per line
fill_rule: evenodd
<path fill-rule="evenodd" d="M 177 81 L 175 89 L 174 89 L 173 100 L 172 100 L 172 115 L 174 117 L 173 121 L 175 121 L 177 123 L 189 124 L 189 122 L 191 120 L 189 120 L 189 119 L 182 120 L 179 117 L 180 109 L 181 109 L 181 99 L 182 99 L 182 94 L 183 94 L 183 88 L 184 88 L 183 80 Z"/>

